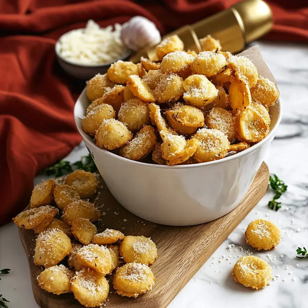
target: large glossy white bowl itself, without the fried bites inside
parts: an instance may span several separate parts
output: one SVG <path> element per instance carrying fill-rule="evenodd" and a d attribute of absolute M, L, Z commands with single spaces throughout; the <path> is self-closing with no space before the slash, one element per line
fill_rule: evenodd
<path fill-rule="evenodd" d="M 84 89 L 75 105 L 75 123 L 110 192 L 130 212 L 163 225 L 197 225 L 233 210 L 252 184 L 281 119 L 278 102 L 270 107 L 271 131 L 261 142 L 221 160 L 164 166 L 99 148 L 82 129 L 88 105 Z"/>

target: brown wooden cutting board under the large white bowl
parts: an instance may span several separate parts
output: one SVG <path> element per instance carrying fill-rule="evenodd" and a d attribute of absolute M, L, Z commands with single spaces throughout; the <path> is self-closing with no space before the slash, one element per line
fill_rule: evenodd
<path fill-rule="evenodd" d="M 115 200 L 101 179 L 99 193 L 91 200 L 97 206 L 101 206 L 102 221 L 96 224 L 98 231 L 111 228 L 120 230 L 126 235 L 151 237 L 158 249 L 158 258 L 151 265 L 156 277 L 153 290 L 137 298 L 122 297 L 115 294 L 112 288 L 112 277 L 107 278 L 110 283 L 110 293 L 106 306 L 110 308 L 165 308 L 168 306 L 189 279 L 264 196 L 268 181 L 269 170 L 263 163 L 247 195 L 233 211 L 206 224 L 174 227 L 144 221 L 128 212 Z M 71 293 L 57 296 L 38 286 L 36 278 L 43 268 L 33 263 L 34 232 L 19 229 L 19 235 L 28 257 L 33 295 L 39 306 L 42 308 L 84 307 Z"/>

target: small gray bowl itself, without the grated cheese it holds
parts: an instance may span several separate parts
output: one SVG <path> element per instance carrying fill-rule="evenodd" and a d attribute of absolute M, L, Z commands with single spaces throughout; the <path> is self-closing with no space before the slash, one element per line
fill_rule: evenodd
<path fill-rule="evenodd" d="M 67 32 L 69 33 L 69 32 Z M 65 33 L 65 34 L 67 34 Z M 64 34 L 63 34 L 64 35 Z M 61 48 L 61 40 L 62 36 L 58 39 L 56 45 L 55 45 L 55 53 L 58 59 L 58 62 L 60 66 L 63 68 L 64 71 L 67 72 L 67 74 L 78 78 L 78 79 L 91 79 L 94 77 L 96 74 L 105 74 L 110 67 L 112 63 L 115 61 L 112 61 L 110 63 L 106 64 L 98 64 L 98 65 L 91 65 L 91 64 L 76 64 L 72 63 L 69 60 L 63 58 L 60 55 L 60 48 Z M 132 51 L 128 50 L 124 55 L 119 57 L 117 60 L 127 60 L 128 57 L 131 55 Z M 117 61 L 116 60 L 116 61 Z"/>

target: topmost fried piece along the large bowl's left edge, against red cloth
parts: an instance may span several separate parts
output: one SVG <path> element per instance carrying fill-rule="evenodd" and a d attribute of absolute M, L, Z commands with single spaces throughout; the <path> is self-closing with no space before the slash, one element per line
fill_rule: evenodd
<path fill-rule="evenodd" d="M 87 97 L 92 102 L 102 97 L 107 88 L 112 88 L 114 85 L 115 83 L 108 78 L 107 74 L 97 74 L 87 82 Z"/>

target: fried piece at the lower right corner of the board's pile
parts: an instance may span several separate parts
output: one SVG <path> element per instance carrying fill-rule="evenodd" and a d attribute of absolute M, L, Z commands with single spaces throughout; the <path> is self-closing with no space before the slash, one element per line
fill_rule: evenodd
<path fill-rule="evenodd" d="M 113 277 L 113 287 L 122 296 L 137 297 L 152 290 L 155 277 L 151 269 L 141 263 L 127 263 L 118 268 Z"/>

